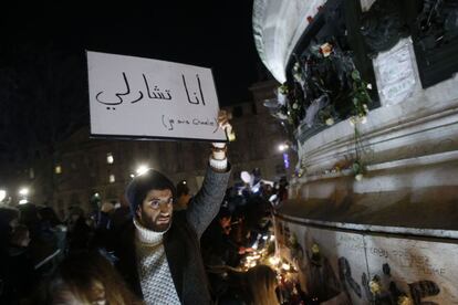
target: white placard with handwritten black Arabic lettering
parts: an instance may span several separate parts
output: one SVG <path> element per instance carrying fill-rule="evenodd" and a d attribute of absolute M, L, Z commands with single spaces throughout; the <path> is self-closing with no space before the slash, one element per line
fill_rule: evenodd
<path fill-rule="evenodd" d="M 87 51 L 91 135 L 226 141 L 210 69 Z"/>

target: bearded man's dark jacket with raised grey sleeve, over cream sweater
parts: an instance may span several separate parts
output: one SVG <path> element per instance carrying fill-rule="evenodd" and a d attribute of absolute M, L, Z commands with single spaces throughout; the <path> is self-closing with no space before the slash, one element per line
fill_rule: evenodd
<path fill-rule="evenodd" d="M 171 278 L 181 304 L 211 304 L 209 285 L 200 254 L 200 236 L 219 211 L 230 171 L 207 169 L 202 187 L 188 209 L 174 212 L 164 234 L 164 249 Z M 143 298 L 135 254 L 135 227 L 129 222 L 117 236 L 117 269 L 131 290 Z"/>

